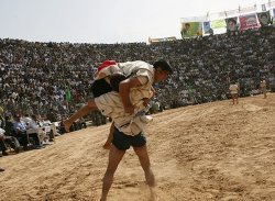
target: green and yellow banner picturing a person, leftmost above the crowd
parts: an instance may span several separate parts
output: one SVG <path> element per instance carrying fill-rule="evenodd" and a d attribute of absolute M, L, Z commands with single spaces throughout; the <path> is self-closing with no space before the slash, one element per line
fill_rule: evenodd
<path fill-rule="evenodd" d="M 182 23 L 180 34 L 183 38 L 200 36 L 202 35 L 202 23 L 201 22 Z"/>

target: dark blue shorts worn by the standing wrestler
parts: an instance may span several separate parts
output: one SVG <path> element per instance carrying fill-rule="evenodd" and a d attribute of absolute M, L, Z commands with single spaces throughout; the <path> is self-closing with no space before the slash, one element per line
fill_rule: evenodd
<path fill-rule="evenodd" d="M 125 135 L 114 127 L 112 144 L 120 150 L 127 150 L 130 146 L 142 147 L 146 144 L 146 138 L 143 133 L 138 135 Z"/>

